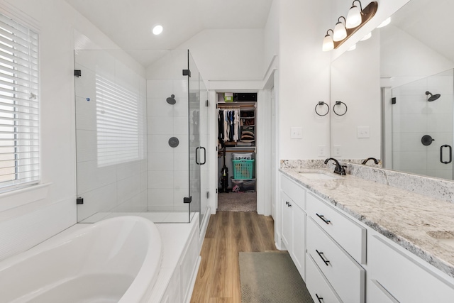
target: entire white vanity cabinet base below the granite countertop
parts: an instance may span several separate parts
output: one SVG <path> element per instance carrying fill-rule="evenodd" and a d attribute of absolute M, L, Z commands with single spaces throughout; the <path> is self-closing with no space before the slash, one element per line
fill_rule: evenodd
<path fill-rule="evenodd" d="M 453 277 L 284 174 L 281 206 L 282 243 L 315 303 L 454 302 Z"/>

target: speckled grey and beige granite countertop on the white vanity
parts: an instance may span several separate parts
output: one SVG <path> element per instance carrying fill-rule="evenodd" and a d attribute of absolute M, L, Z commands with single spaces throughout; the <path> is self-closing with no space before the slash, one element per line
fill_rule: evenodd
<path fill-rule="evenodd" d="M 454 277 L 454 203 L 352 175 L 334 175 L 332 170 L 279 171 Z M 338 179 L 314 180 L 299 172 L 323 172 Z M 446 243 L 437 238 L 453 241 Z"/>

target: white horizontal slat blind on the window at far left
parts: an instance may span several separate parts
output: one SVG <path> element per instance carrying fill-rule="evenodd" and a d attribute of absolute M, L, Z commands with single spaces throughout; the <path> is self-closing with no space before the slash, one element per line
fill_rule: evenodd
<path fill-rule="evenodd" d="M 0 13 L 0 192 L 38 183 L 38 33 Z"/>

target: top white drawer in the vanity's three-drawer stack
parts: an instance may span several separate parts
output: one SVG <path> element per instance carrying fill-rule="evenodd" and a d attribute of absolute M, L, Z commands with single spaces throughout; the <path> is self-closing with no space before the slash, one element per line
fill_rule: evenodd
<path fill-rule="evenodd" d="M 366 263 L 366 228 L 308 192 L 306 212 L 360 264 Z"/>

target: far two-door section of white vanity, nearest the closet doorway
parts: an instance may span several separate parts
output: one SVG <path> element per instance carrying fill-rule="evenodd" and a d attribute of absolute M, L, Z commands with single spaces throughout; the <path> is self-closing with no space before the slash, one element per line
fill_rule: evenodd
<path fill-rule="evenodd" d="M 306 255 L 306 191 L 287 177 L 281 179 L 282 243 L 304 280 Z"/>

